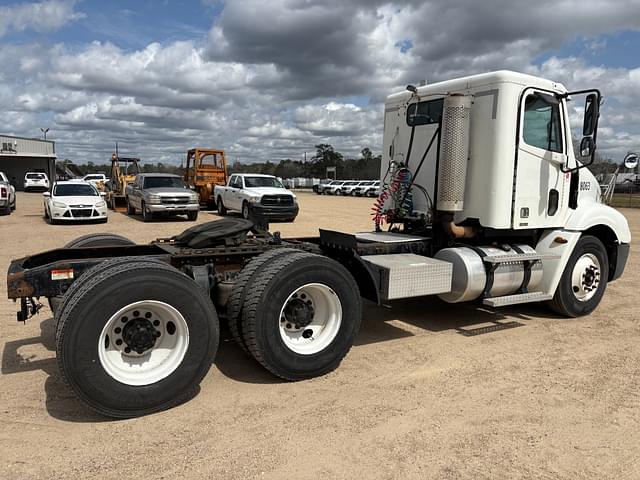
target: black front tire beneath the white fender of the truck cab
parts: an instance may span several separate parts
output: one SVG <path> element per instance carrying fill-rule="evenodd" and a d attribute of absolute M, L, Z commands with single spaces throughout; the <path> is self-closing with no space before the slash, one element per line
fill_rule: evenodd
<path fill-rule="evenodd" d="M 589 298 L 580 300 L 574 293 L 574 288 L 580 288 L 573 285 L 572 276 L 574 267 L 579 259 L 585 255 L 596 258 L 599 263 L 599 269 L 596 269 L 597 275 L 594 273 L 591 278 L 586 280 L 582 277 L 582 282 L 588 282 L 588 286 L 592 287 L 595 283 L 595 293 Z M 562 277 L 556 293 L 553 296 L 553 300 L 549 302 L 549 306 L 553 311 L 567 317 L 579 317 L 582 315 L 588 315 L 596 309 L 604 291 L 607 288 L 607 279 L 609 278 L 609 260 L 607 257 L 607 250 L 602 242 L 593 236 L 585 235 L 578 240 L 573 253 L 569 257 L 569 261 L 564 268 Z"/>

